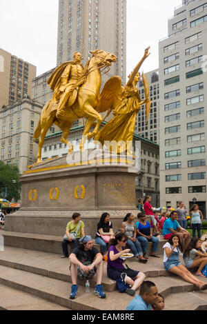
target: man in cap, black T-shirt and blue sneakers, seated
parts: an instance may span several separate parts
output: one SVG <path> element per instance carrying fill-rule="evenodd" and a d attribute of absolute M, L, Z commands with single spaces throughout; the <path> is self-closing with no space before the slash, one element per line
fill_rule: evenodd
<path fill-rule="evenodd" d="M 92 237 L 83 236 L 79 240 L 79 247 L 72 250 L 69 257 L 70 274 L 72 287 L 70 299 L 75 299 L 78 291 L 77 277 L 79 279 L 90 279 L 97 274 L 97 285 L 95 285 L 95 294 L 100 298 L 106 298 L 101 285 L 103 277 L 103 256 L 95 247 L 92 246 Z"/>

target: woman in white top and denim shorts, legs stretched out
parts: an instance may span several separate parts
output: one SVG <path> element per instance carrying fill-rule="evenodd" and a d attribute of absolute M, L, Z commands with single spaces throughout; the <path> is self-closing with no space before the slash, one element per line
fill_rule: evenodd
<path fill-rule="evenodd" d="M 181 276 L 188 283 L 193 283 L 200 290 L 206 290 L 207 284 L 199 281 L 193 276 L 184 265 L 179 261 L 179 254 L 182 252 L 181 242 L 177 234 L 173 234 L 169 241 L 164 245 L 164 267 L 167 271 Z"/>

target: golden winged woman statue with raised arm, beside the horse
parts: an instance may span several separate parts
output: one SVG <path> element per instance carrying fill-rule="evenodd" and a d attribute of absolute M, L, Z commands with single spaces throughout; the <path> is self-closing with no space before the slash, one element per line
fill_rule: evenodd
<path fill-rule="evenodd" d="M 124 87 L 121 85 L 120 77 L 112 77 L 106 82 L 101 92 L 101 100 L 97 110 L 99 112 L 107 111 L 106 117 L 112 112 L 114 117 L 101 128 L 95 136 L 95 141 L 99 141 L 102 145 L 106 141 L 114 141 L 114 146 L 112 143 L 108 143 L 108 145 L 106 143 L 106 145 L 110 151 L 117 154 L 126 151 L 128 141 L 132 143 L 136 118 L 141 105 L 146 104 L 146 122 L 150 114 L 149 86 L 144 73 L 142 74 L 146 96 L 144 101 L 141 101 L 139 90 L 137 89 L 137 82 L 140 79 L 139 69 L 144 60 L 150 55 L 149 49 L 145 50 L 144 57 L 142 57 L 135 70 L 129 75 L 128 83 Z M 117 143 L 119 143 L 118 148 Z M 131 153 L 128 148 L 127 154 Z"/>

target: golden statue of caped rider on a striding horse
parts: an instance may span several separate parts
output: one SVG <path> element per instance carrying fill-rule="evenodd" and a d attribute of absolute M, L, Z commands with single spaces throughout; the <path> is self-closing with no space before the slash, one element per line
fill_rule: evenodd
<path fill-rule="evenodd" d="M 74 121 L 86 118 L 97 119 L 95 130 L 87 132 L 86 126 L 83 134 L 88 138 L 94 137 L 103 118 L 97 112 L 96 108 L 100 99 L 101 88 L 101 71 L 110 69 L 111 63 L 117 61 L 117 57 L 103 50 L 95 50 L 90 52 L 92 57 L 86 63 L 83 70 L 81 67 L 81 57 L 79 53 L 75 53 L 75 62 L 67 62 L 61 64 L 48 79 L 48 84 L 54 91 L 54 95 L 41 111 L 41 117 L 34 132 L 34 141 L 39 138 L 39 152 L 37 155 L 37 163 L 41 163 L 41 149 L 45 136 L 54 123 L 62 130 L 61 141 L 66 143 L 69 151 L 73 150 L 72 143 L 68 141 L 68 134 Z M 78 70 L 78 72 L 77 72 Z M 81 143 L 80 148 L 83 148 Z"/>

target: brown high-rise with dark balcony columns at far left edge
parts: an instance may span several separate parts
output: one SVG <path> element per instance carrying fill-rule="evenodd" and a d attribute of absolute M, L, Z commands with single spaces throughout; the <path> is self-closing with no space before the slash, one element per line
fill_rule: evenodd
<path fill-rule="evenodd" d="M 0 109 L 21 99 L 32 98 L 36 66 L 0 48 Z"/>

